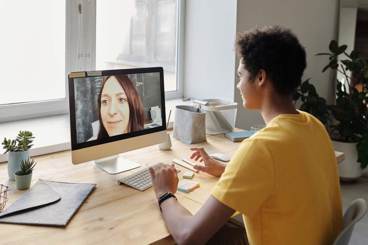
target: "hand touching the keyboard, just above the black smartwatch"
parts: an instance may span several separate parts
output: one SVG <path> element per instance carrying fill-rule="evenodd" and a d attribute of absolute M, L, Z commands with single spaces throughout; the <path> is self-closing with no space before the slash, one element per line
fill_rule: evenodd
<path fill-rule="evenodd" d="M 153 190 L 155 190 L 157 199 L 159 199 L 166 192 L 175 194 L 179 183 L 175 165 L 158 165 L 155 167 L 155 170 L 153 167 L 149 168 Z"/>

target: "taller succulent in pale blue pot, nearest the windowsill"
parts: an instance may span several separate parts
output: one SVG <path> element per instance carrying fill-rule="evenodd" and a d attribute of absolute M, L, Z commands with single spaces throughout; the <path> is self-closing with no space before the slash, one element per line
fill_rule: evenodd
<path fill-rule="evenodd" d="M 29 151 L 32 147 L 33 134 L 29 131 L 19 131 L 15 140 L 7 140 L 1 143 L 5 149 L 4 154 L 8 152 L 8 176 L 10 180 L 14 179 L 14 173 L 21 170 L 21 160 L 29 157 Z"/>

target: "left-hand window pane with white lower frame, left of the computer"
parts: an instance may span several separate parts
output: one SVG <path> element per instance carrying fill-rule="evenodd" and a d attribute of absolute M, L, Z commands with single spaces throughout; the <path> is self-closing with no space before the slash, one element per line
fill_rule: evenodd
<path fill-rule="evenodd" d="M 1 9 L 0 120 L 67 113 L 65 1 L 3 1 Z"/>

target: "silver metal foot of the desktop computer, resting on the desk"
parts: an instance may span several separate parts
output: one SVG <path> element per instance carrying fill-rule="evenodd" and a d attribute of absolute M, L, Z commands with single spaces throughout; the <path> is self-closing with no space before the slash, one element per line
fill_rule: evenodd
<path fill-rule="evenodd" d="M 97 159 L 95 160 L 95 164 L 109 174 L 117 174 L 141 166 L 139 163 L 132 162 L 128 159 L 120 157 L 119 155 Z"/>

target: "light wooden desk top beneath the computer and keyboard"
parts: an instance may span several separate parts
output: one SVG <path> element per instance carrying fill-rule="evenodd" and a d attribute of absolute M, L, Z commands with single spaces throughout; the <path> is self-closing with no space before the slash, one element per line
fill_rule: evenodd
<path fill-rule="evenodd" d="M 172 130 L 170 134 L 172 135 Z M 193 145 L 172 137 L 171 141 L 172 148 L 168 151 L 162 151 L 157 145 L 153 145 L 124 153 L 122 156 L 145 167 L 157 161 L 171 163 L 173 158 L 189 158 L 189 148 L 194 146 L 205 147 L 209 153 L 224 152 L 233 155 L 240 144 L 227 140 L 223 134 L 208 134 L 206 142 Z M 341 158 L 340 153 L 336 156 Z M 97 186 L 65 228 L 0 224 L 1 244 L 174 244 L 159 211 L 153 188 L 141 192 L 116 183 L 117 179 L 138 171 L 139 168 L 110 175 L 96 167 L 94 162 L 73 165 L 70 151 L 36 156 L 35 161 L 37 165 L 31 186 L 38 179 L 93 183 Z M 181 169 L 178 174 L 181 177 L 186 169 L 177 167 Z M 195 174 L 194 180 L 201 187 L 188 194 L 176 194 L 178 201 L 191 213 L 196 213 L 201 208 L 218 178 L 199 172 Z M 8 179 L 7 163 L 0 164 L 0 184 L 11 188 L 6 207 L 26 192 L 17 190 L 15 182 Z"/>

